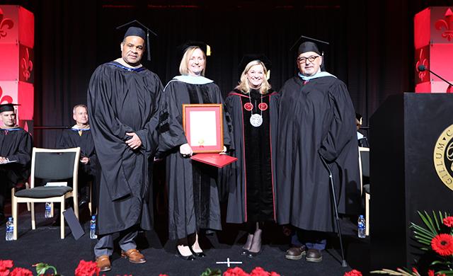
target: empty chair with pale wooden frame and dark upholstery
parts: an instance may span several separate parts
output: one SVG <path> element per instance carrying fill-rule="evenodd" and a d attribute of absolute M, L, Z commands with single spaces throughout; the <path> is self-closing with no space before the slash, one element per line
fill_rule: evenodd
<path fill-rule="evenodd" d="M 72 149 L 39 149 L 33 148 L 31 159 L 30 188 L 11 190 L 11 207 L 13 213 L 13 238 L 17 239 L 18 204 L 30 202 L 31 225 L 35 229 L 35 202 L 59 202 L 60 207 L 60 238 L 64 238 L 64 200 L 73 197 L 74 213 L 79 218 L 79 204 L 77 200 L 77 173 L 79 170 L 80 148 Z M 51 179 L 52 181 L 72 179 L 69 185 L 48 185 L 35 187 L 36 178 Z M 74 192 L 73 192 L 74 191 Z M 52 209 L 53 212 L 53 209 Z"/>

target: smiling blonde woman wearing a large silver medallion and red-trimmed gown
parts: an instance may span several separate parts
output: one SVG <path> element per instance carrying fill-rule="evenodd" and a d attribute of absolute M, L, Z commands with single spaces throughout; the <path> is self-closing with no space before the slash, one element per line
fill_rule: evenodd
<path fill-rule="evenodd" d="M 267 67 L 267 68 L 266 68 Z M 226 97 L 238 161 L 223 171 L 229 184 L 226 222 L 246 223 L 242 255 L 261 252 L 264 222 L 275 222 L 275 142 L 279 97 L 268 83 L 269 59 L 248 54 L 241 61 L 241 81 Z"/>

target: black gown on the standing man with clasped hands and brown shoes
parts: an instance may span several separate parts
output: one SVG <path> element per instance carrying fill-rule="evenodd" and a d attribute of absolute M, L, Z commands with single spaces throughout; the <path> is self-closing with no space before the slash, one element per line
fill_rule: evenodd
<path fill-rule="evenodd" d="M 127 69 L 117 62 L 101 65 L 88 87 L 96 154 L 101 165 L 98 234 L 122 231 L 135 224 L 151 229 L 150 168 L 158 144 L 162 84 L 153 72 Z M 126 132 L 142 140 L 130 149 Z"/>

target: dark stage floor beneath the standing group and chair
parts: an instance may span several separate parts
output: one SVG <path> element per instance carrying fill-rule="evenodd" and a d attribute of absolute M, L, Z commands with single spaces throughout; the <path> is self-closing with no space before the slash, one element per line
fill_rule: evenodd
<path fill-rule="evenodd" d="M 30 212 L 23 210 L 18 221 L 18 240 L 5 241 L 5 224 L 0 226 L 0 260 L 13 260 L 15 267 L 27 268 L 35 273 L 31 265 L 48 263 L 54 265 L 61 275 L 74 275 L 80 260 L 94 260 L 93 246 L 96 240 L 89 238 L 88 210 L 81 209 L 81 221 L 85 235 L 78 241 L 70 234 L 67 226 L 66 238 L 59 238 L 59 226 L 52 226 L 54 219 L 44 218 L 43 204 L 35 205 L 37 229 L 31 230 Z M 193 261 L 183 260 L 176 256 L 176 243 L 168 241 L 164 215 L 156 215 L 155 231 L 139 234 L 138 248 L 147 258 L 147 263 L 132 264 L 120 258 L 119 250 L 111 258 L 113 269 L 101 272 L 101 275 L 200 275 L 207 268 L 226 271 L 226 264 L 216 264 L 227 258 L 230 261 L 242 262 L 233 264 L 246 272 L 260 266 L 267 271 L 280 275 L 343 275 L 355 268 L 364 275 L 369 268 L 369 238 L 357 238 L 357 229 L 350 219 L 342 219 L 343 244 L 345 247 L 348 268 L 340 265 L 340 246 L 336 235 L 328 239 L 328 250 L 323 252 L 321 263 L 308 263 L 302 260 L 286 260 L 288 238 L 282 234 L 280 226 L 269 225 L 263 231 L 263 251 L 256 258 L 240 255 L 241 246 L 246 240 L 246 232 L 241 226 L 225 224 L 224 231 L 202 237 L 201 246 L 205 249 L 206 258 Z M 59 222 L 58 222 L 59 223 Z"/>

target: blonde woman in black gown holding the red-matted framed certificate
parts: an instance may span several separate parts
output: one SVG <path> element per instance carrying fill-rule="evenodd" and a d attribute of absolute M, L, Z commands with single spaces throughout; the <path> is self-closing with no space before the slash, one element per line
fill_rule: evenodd
<path fill-rule="evenodd" d="M 198 243 L 200 230 L 221 230 L 222 226 L 217 168 L 190 159 L 195 146 L 194 149 L 190 146 L 190 139 L 184 131 L 186 122 L 183 122 L 183 105 L 223 104 L 223 100 L 217 84 L 204 76 L 208 46 L 202 42 L 187 42 L 181 46 L 181 50 L 181 75 L 174 77 L 164 88 L 159 122 L 159 155 L 166 156 L 169 238 L 178 240 L 178 255 L 181 258 L 193 260 L 195 256 L 205 256 Z M 215 110 L 212 112 L 215 113 Z M 203 138 L 200 134 L 204 128 L 200 127 L 199 120 L 212 117 L 200 114 L 202 113 L 194 112 L 190 115 L 193 120 L 190 121 L 193 126 L 190 137 L 200 140 L 197 146 L 210 146 L 210 143 L 219 142 L 217 138 Z M 225 115 L 222 112 L 219 114 L 222 115 L 222 123 L 219 125 L 225 127 L 223 139 L 220 140 L 222 147 L 217 152 L 222 151 L 223 145 L 231 146 L 231 134 L 229 127 L 226 127 Z M 215 121 L 210 120 L 209 125 L 215 125 Z"/>

